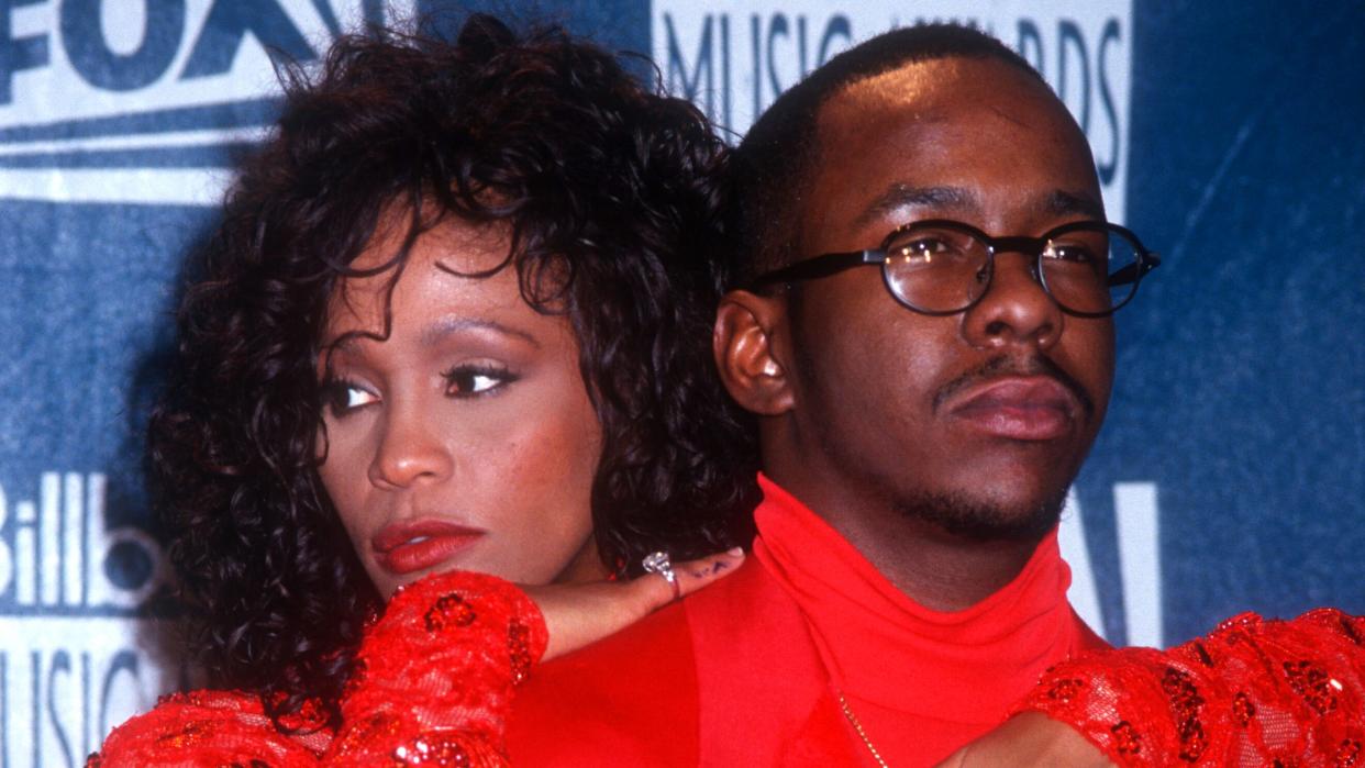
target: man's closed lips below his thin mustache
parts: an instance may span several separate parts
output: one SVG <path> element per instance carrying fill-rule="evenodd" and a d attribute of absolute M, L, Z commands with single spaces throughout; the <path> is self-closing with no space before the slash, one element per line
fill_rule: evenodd
<path fill-rule="evenodd" d="M 1076 397 L 1051 378 L 1006 378 L 969 389 L 950 413 L 990 435 L 1050 441 L 1066 435 L 1078 411 Z"/>

